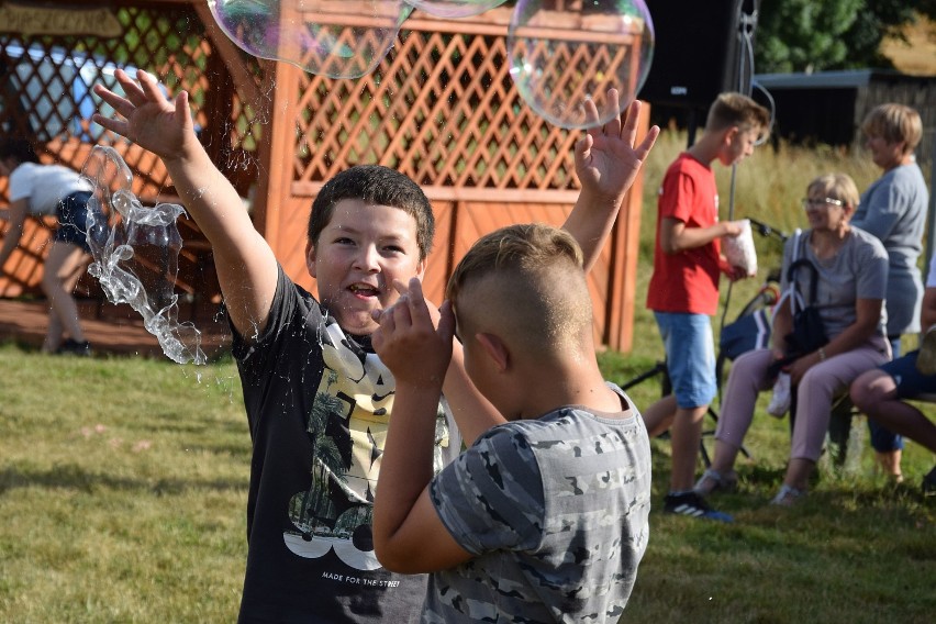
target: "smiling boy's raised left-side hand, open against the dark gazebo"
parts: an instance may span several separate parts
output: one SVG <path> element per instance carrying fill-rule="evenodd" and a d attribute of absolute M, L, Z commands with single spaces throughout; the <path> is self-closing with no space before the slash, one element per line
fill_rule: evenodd
<path fill-rule="evenodd" d="M 126 98 L 122 98 L 103 85 L 94 85 L 94 93 L 113 107 L 125 121 L 94 113 L 94 123 L 113 131 L 141 147 L 170 160 L 185 156 L 188 142 L 198 142 L 189 111 L 189 97 L 179 92 L 175 102 L 166 99 L 159 83 L 149 74 L 140 70 L 133 80 L 122 69 L 114 73 Z"/>

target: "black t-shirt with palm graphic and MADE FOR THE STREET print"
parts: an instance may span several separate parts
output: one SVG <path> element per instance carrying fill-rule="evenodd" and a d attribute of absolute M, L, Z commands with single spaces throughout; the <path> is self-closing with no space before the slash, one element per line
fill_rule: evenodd
<path fill-rule="evenodd" d="M 374 555 L 394 381 L 369 338 L 345 335 L 282 269 L 264 334 L 234 333 L 254 447 L 239 622 L 417 621 L 425 576 Z M 443 408 L 437 470 L 460 448 Z"/>

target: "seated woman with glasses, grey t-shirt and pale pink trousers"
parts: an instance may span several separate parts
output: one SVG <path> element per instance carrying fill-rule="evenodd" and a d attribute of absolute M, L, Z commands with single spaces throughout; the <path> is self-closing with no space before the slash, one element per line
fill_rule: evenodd
<path fill-rule="evenodd" d="M 793 503 L 806 492 L 822 454 L 834 400 L 844 395 L 860 374 L 890 359 L 882 314 L 888 254 L 878 238 L 849 225 L 857 204 L 858 189 L 844 174 L 810 182 L 803 200 L 810 229 L 787 242 L 782 289 L 793 292 L 788 269 L 794 257 L 815 267 L 815 300 L 810 299 L 811 271 L 798 270 L 792 289 L 818 308 L 828 343 L 810 353 L 791 355 L 791 297 L 781 300 L 773 315 L 772 348 L 748 352 L 732 366 L 722 397 L 712 467 L 695 483 L 702 495 L 737 483 L 734 464 L 754 419 L 757 394 L 772 387 L 782 367 L 796 388 L 796 417 L 783 486 L 772 503 Z"/>

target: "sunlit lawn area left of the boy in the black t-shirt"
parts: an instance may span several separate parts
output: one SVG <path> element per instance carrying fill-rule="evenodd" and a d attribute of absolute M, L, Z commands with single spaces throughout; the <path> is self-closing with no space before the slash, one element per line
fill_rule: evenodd
<path fill-rule="evenodd" d="M 0 621 L 233 622 L 249 437 L 229 361 L 0 347 Z"/>

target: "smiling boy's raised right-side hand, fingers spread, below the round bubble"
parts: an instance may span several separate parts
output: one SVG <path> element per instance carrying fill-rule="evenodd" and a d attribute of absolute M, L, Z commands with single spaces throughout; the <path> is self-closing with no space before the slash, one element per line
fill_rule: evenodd
<path fill-rule="evenodd" d="M 615 89 L 608 91 L 608 101 L 609 107 L 619 109 Z M 586 105 L 589 107 L 589 116 L 597 121 L 599 115 L 594 102 L 589 100 Z M 606 199 L 615 205 L 622 201 L 660 133 L 658 126 L 653 126 L 640 145 L 634 147 L 639 113 L 640 102 L 634 100 L 623 124 L 619 115 L 603 126 L 589 129 L 576 143 L 576 174 L 582 185 L 582 193 Z"/>

